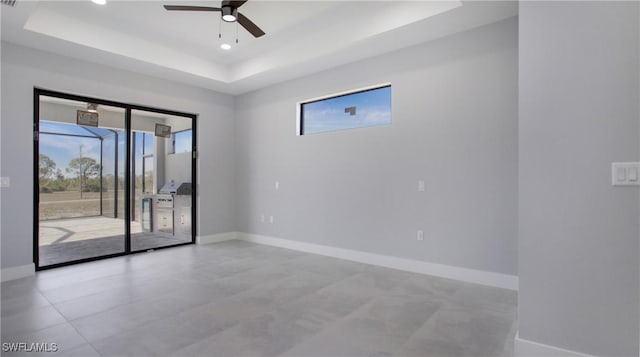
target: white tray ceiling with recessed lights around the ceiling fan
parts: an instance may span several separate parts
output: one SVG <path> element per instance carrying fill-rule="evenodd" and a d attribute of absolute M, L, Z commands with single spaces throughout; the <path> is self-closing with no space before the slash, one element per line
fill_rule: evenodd
<path fill-rule="evenodd" d="M 266 32 L 256 39 L 219 13 L 162 7 L 217 0 L 107 1 L 3 5 L 2 40 L 239 94 L 517 14 L 514 1 L 250 0 L 239 11 Z"/>

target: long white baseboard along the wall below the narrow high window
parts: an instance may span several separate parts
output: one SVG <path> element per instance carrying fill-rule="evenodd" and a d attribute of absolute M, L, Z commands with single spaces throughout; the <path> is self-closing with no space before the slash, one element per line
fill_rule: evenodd
<path fill-rule="evenodd" d="M 237 233 L 238 239 L 247 242 L 272 245 L 307 253 L 326 255 L 329 257 L 351 260 L 354 262 L 383 266 L 392 269 L 410 271 L 413 273 L 434 275 L 448 279 L 466 281 L 475 284 L 488 285 L 509 290 L 518 290 L 518 277 L 483 270 L 455 267 L 450 265 L 429 263 L 420 260 L 392 257 L 357 250 L 343 249 L 292 241 L 288 239 L 262 236 L 257 234 Z"/>

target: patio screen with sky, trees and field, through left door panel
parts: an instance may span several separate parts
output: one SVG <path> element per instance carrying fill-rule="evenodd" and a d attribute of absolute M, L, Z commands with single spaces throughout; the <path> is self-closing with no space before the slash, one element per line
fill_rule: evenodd
<path fill-rule="evenodd" d="M 124 157 L 118 152 L 124 135 L 40 121 L 40 220 L 124 214 Z"/>

